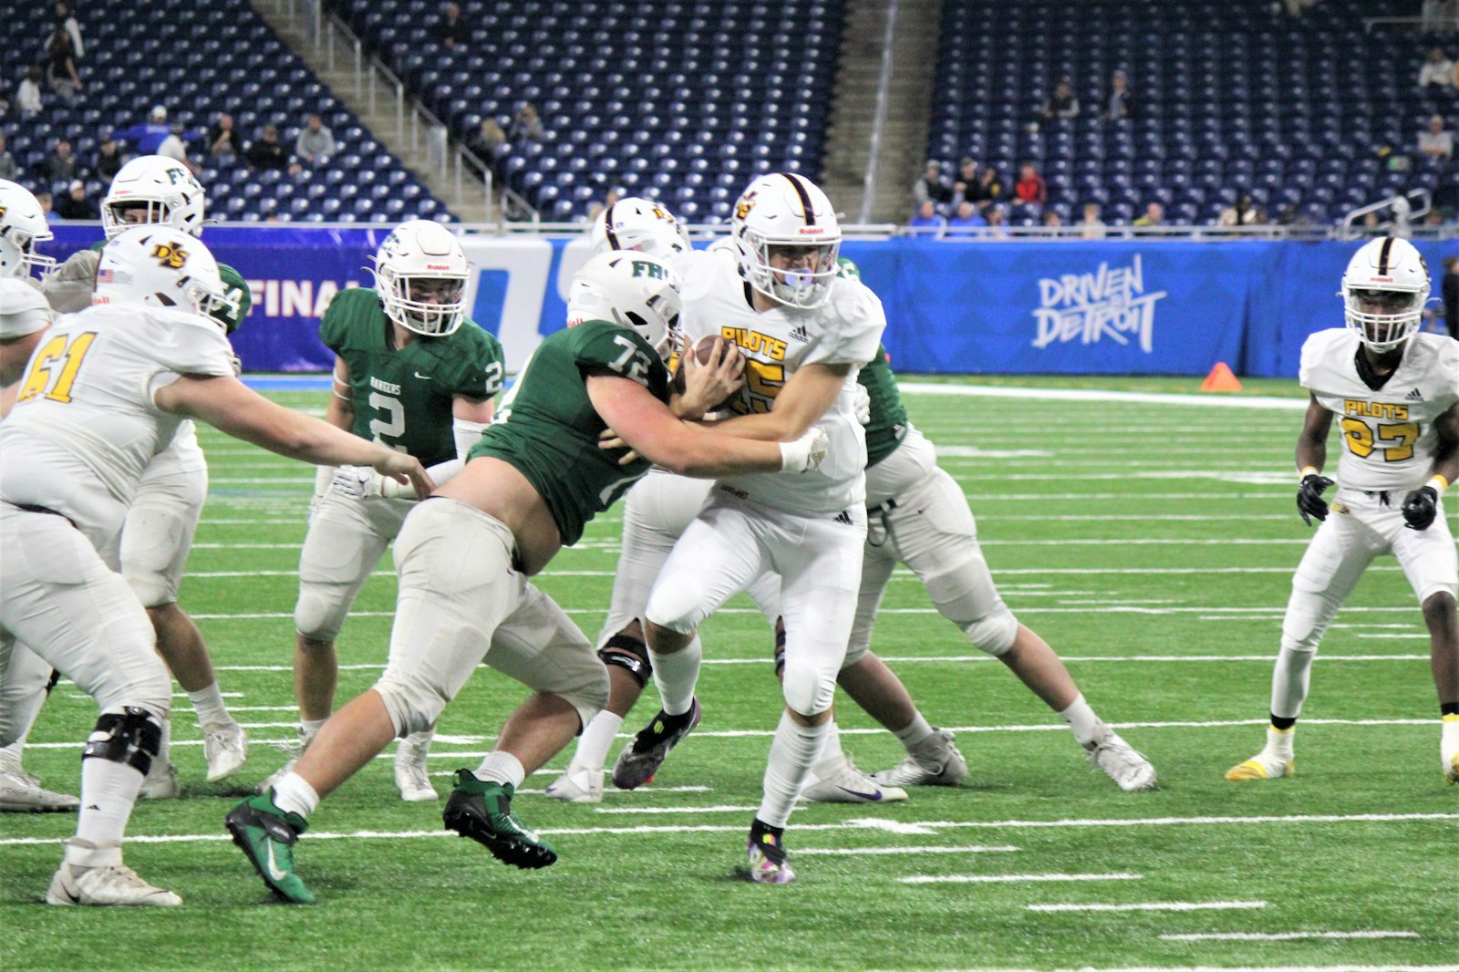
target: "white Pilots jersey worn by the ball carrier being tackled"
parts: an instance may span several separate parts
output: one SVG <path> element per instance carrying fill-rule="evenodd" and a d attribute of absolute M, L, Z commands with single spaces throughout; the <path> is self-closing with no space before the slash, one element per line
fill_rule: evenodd
<path fill-rule="evenodd" d="M 788 512 L 835 514 L 865 499 L 867 436 L 856 422 L 856 371 L 870 362 L 887 324 L 881 301 L 859 280 L 836 280 L 830 301 L 818 308 L 776 306 L 759 312 L 750 285 L 732 254 L 684 254 L 674 269 L 683 274 L 680 317 L 689 347 L 718 334 L 747 359 L 746 385 L 734 412 L 769 412 L 802 365 L 851 365 L 840 396 L 816 425 L 830 438 L 830 452 L 813 473 L 759 473 L 721 480 L 756 502 Z"/>

